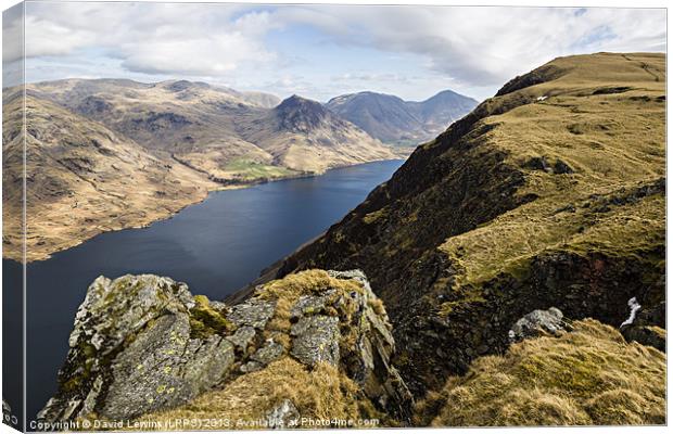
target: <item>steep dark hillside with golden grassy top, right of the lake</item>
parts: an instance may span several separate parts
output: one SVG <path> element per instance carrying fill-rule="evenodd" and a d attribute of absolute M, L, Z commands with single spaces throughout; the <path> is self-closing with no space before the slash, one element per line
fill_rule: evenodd
<path fill-rule="evenodd" d="M 664 55 L 640 53 L 561 58 L 517 77 L 267 275 L 364 269 L 417 396 L 503 352 L 532 309 L 614 327 L 632 297 L 657 309 L 664 84 Z"/>

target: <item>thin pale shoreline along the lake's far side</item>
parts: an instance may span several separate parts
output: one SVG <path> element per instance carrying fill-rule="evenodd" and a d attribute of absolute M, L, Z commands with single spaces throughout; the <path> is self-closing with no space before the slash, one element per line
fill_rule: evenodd
<path fill-rule="evenodd" d="M 43 260 L 49 260 L 52 258 L 52 255 L 65 252 L 69 248 L 76 247 L 98 235 L 101 235 L 103 233 L 109 233 L 109 232 L 117 232 L 117 231 L 123 231 L 123 230 L 130 230 L 130 229 L 144 229 L 148 228 L 150 226 L 152 226 L 155 222 L 158 221 L 166 221 L 172 219 L 174 216 L 176 216 L 178 213 L 182 212 L 185 208 L 187 208 L 188 206 L 192 206 L 192 205 L 198 205 L 200 203 L 203 203 L 206 199 L 208 199 L 208 196 L 212 193 L 215 192 L 220 192 L 220 191 L 228 191 L 228 190 L 240 190 L 240 189 L 247 189 L 247 188 L 252 188 L 255 186 L 263 186 L 266 183 L 270 183 L 270 182 L 280 182 L 280 181 L 289 181 L 289 180 L 294 180 L 294 179 L 305 179 L 305 178 L 315 178 L 315 177 L 319 177 L 319 176 L 323 176 L 325 174 L 327 174 L 328 171 L 331 170 L 340 170 L 340 169 L 345 169 L 345 168 L 350 168 L 350 167 L 357 167 L 357 166 L 363 166 L 366 164 L 371 164 L 371 163 L 381 163 L 381 162 L 392 162 L 392 161 L 404 161 L 406 158 L 388 158 L 388 159 L 374 159 L 371 162 L 364 162 L 364 163 L 358 163 L 358 164 L 353 164 L 353 165 L 345 165 L 345 166 L 338 166 L 338 167 L 332 167 L 329 168 L 327 170 L 325 170 L 323 173 L 317 174 L 317 173 L 305 173 L 305 174 L 293 174 L 291 176 L 287 176 L 287 177 L 279 177 L 279 178 L 263 178 L 263 179 L 256 179 L 256 180 L 252 180 L 250 182 L 244 182 L 244 183 L 240 183 L 240 184 L 223 184 L 219 183 L 219 187 L 214 188 L 214 189 L 206 189 L 205 190 L 205 194 L 203 194 L 202 197 L 200 197 L 196 201 L 193 202 L 189 202 L 186 203 L 185 205 L 180 206 L 179 208 L 177 208 L 174 212 L 168 212 L 166 213 L 165 216 L 160 216 L 156 218 L 151 218 L 148 221 L 144 222 L 139 222 L 139 224 L 134 224 L 134 225 L 127 225 L 127 226 L 112 226 L 112 227 L 107 227 L 107 228 L 97 228 L 99 230 L 93 231 L 94 233 L 91 234 L 90 237 L 84 238 L 84 239 L 77 239 L 77 238 L 73 238 L 72 239 L 72 243 L 63 243 L 63 245 L 60 248 L 55 248 L 55 250 L 51 250 L 47 253 L 40 253 L 40 254 L 33 254 L 30 255 L 28 252 L 26 252 L 26 260 L 25 260 L 25 265 L 28 266 L 31 263 L 37 263 L 37 261 L 43 261 Z M 212 180 L 212 182 L 217 183 L 217 181 Z M 18 264 L 23 264 L 23 257 L 17 258 L 15 255 L 5 255 L 4 254 L 4 248 L 3 248 L 3 255 L 2 255 L 2 259 L 9 259 Z"/>

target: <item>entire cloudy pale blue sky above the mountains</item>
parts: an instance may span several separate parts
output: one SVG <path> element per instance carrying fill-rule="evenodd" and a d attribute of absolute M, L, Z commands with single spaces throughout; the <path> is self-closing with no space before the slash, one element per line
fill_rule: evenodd
<path fill-rule="evenodd" d="M 3 86 L 21 14 L 3 17 Z M 478 100 L 557 56 L 665 51 L 663 9 L 27 2 L 26 81 L 190 79 L 318 101 L 363 90 Z"/>

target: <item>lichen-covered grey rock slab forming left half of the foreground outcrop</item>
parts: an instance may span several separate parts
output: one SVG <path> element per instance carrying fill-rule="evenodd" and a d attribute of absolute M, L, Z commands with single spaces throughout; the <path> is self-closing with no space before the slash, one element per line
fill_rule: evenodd
<path fill-rule="evenodd" d="M 233 365 L 233 345 L 217 334 L 191 339 L 193 306 L 187 285 L 167 278 L 96 279 L 77 311 L 59 392 L 38 419 L 90 412 L 131 419 L 220 382 Z"/>

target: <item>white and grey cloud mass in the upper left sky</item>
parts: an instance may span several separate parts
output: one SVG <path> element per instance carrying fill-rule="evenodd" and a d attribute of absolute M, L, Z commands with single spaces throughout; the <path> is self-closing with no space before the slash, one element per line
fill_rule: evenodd
<path fill-rule="evenodd" d="M 28 3 L 26 56 L 104 50 L 129 72 L 220 75 L 268 63 L 266 12 L 237 5 L 177 3 Z"/>

